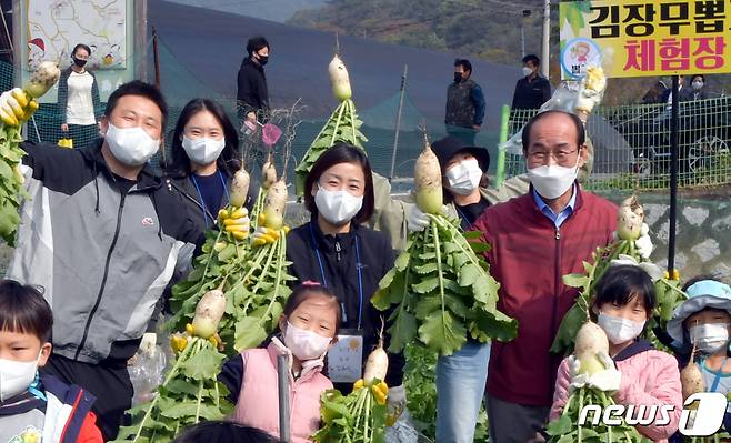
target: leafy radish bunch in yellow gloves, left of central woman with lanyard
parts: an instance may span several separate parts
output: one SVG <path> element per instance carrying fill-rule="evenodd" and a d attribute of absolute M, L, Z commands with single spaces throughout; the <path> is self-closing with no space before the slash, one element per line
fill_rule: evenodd
<path fill-rule="evenodd" d="M 247 193 L 243 192 L 242 195 Z M 259 345 L 279 322 L 294 280 L 287 270 L 287 232 L 283 225 L 287 185 L 278 180 L 266 192 L 257 232 L 237 224 L 246 210 L 228 208 L 219 213 L 222 230 L 210 230 L 193 271 L 176 284 L 170 300 L 169 329 L 180 331 L 191 321 L 200 298 L 213 289 L 226 295 L 220 339 L 227 355 Z M 240 234 L 241 233 L 241 234 Z"/>

